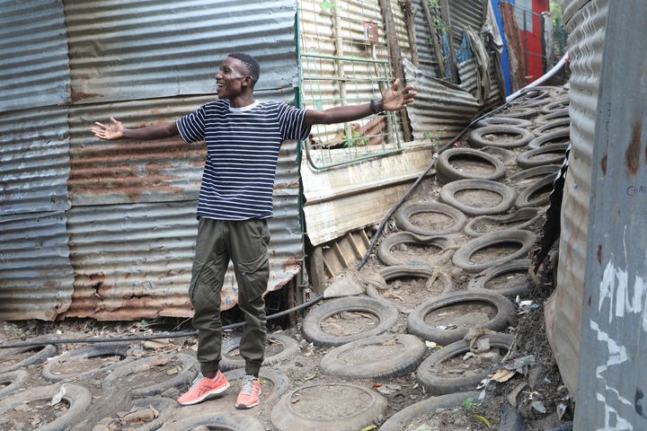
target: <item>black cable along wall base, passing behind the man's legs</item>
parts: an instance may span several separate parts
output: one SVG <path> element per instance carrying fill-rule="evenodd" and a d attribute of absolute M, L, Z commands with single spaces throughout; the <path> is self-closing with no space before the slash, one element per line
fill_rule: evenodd
<path fill-rule="evenodd" d="M 315 298 L 311 299 L 306 303 L 302 303 L 288 310 L 283 310 L 282 312 L 276 312 L 274 314 L 270 314 L 269 316 L 267 316 L 267 320 L 270 321 L 272 319 L 277 319 L 279 317 L 289 314 L 290 312 L 297 312 L 311 305 L 314 305 L 315 303 L 318 303 L 319 301 L 322 300 L 322 298 L 323 298 L 323 295 L 315 296 Z M 243 325 L 244 325 L 244 321 L 241 321 L 238 323 L 232 323 L 231 325 L 223 326 L 222 329 L 234 330 L 235 328 L 240 328 Z M 114 338 L 114 339 L 108 339 L 105 337 L 97 337 L 93 339 L 44 339 L 41 341 L 22 341 L 20 343 L 4 344 L 4 345 L 0 345 L 0 349 L 14 348 L 14 347 L 38 347 L 38 346 L 47 346 L 49 344 L 79 344 L 79 343 L 92 344 L 92 343 L 117 343 L 117 342 L 125 342 L 125 341 L 142 341 L 146 339 L 181 339 L 182 337 L 194 337 L 196 335 L 198 335 L 197 330 L 186 330 L 183 332 L 160 332 L 156 334 L 136 335 L 133 337 L 120 337 L 120 338 Z"/>

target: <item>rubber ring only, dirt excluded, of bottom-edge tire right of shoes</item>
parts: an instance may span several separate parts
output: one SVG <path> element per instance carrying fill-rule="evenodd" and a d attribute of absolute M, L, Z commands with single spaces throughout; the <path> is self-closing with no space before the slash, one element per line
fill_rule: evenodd
<path fill-rule="evenodd" d="M 363 391 L 371 398 L 371 402 L 366 409 L 356 411 L 349 416 L 332 419 L 307 418 L 292 409 L 294 404 L 290 400 L 297 391 L 323 385 L 346 386 Z M 386 409 L 386 398 L 377 391 L 372 391 L 364 386 L 349 383 L 314 383 L 306 384 L 286 393 L 272 409 L 270 418 L 274 427 L 277 427 L 279 431 L 358 431 L 371 425 L 380 415 L 386 415 Z"/>

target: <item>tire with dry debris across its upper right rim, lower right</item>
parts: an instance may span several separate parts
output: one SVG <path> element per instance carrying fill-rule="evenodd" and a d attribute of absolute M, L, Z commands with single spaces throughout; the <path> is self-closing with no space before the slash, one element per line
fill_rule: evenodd
<path fill-rule="evenodd" d="M 510 349 L 514 337 L 507 334 L 486 334 L 483 338 L 490 339 L 490 347 Z M 431 395 L 445 395 L 458 391 L 475 389 L 478 383 L 487 378 L 492 370 L 485 370 L 481 373 L 456 377 L 439 376 L 437 370 L 443 362 L 456 356 L 463 356 L 470 351 L 470 343 L 465 339 L 460 339 L 448 346 L 442 347 L 432 353 L 427 359 L 422 361 L 416 372 L 418 383 Z M 502 356 L 501 356 L 502 359 Z"/>

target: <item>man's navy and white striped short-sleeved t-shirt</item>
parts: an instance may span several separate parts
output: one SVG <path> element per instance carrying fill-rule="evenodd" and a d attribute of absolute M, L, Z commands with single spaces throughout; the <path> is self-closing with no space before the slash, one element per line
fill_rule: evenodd
<path fill-rule="evenodd" d="M 184 142 L 207 144 L 198 216 L 270 218 L 279 147 L 285 140 L 308 136 L 305 116 L 306 110 L 278 101 L 232 108 L 229 101 L 217 100 L 178 119 Z"/>

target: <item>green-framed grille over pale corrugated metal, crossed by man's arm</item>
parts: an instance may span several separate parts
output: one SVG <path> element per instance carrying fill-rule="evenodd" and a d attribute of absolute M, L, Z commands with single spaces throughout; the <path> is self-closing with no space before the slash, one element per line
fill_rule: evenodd
<path fill-rule="evenodd" d="M 301 0 L 300 101 L 306 109 L 379 100 L 392 74 L 377 0 Z M 315 169 L 400 151 L 401 119 L 385 113 L 346 124 L 317 125 L 306 142 Z"/>

